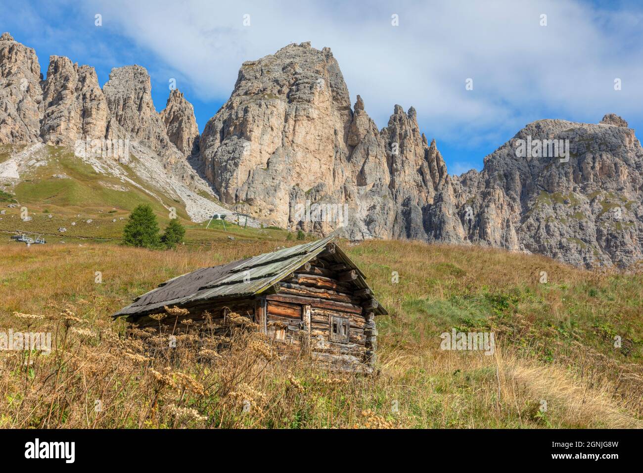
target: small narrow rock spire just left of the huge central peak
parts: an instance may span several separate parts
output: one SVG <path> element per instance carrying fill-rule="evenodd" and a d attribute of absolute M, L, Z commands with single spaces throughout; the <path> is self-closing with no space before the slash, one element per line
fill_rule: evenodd
<path fill-rule="evenodd" d="M 199 151 L 199 127 L 194 118 L 194 107 L 185 100 L 179 89 L 170 92 L 165 109 L 161 111 L 161 120 L 170 142 L 181 153 L 190 156 Z"/>

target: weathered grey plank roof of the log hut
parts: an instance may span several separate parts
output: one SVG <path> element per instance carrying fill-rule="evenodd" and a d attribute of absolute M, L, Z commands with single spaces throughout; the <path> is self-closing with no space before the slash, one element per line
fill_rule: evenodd
<path fill-rule="evenodd" d="M 331 235 L 311 243 L 282 248 L 272 253 L 264 253 L 211 268 L 201 268 L 174 277 L 159 284 L 158 288 L 137 297 L 132 304 L 116 312 L 113 317 L 145 315 L 168 305 L 182 306 L 213 299 L 248 297 L 266 292 L 273 284 L 320 254 L 332 239 Z M 358 273 L 358 278 L 353 281 L 356 286 L 367 288 L 365 275 L 340 248 L 335 247 L 335 249 L 336 258 Z M 376 313 L 386 313 L 386 310 L 379 306 Z"/>

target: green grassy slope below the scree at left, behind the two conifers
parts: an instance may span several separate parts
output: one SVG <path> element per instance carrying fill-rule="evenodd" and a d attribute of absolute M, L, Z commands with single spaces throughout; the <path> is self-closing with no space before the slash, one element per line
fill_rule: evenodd
<path fill-rule="evenodd" d="M 0 163 L 19 151 L 21 147 L 3 145 Z M 12 234 L 23 231 L 41 234 L 51 243 L 86 243 L 87 240 L 119 243 L 129 212 L 141 203 L 152 206 L 161 227 L 169 221 L 167 208 L 174 207 L 177 218 L 186 227 L 187 243 L 192 245 L 207 244 L 228 235 L 256 239 L 285 234 L 271 229 L 259 233 L 246 231 L 230 222 L 224 228 L 221 221 L 213 221 L 206 230 L 206 223 L 190 220 L 182 201 L 168 198 L 162 190 L 142 181 L 129 167 L 123 166 L 122 171 L 140 187 L 111 174 L 96 172 L 66 148 L 46 147 L 46 160 L 21 171 L 19 182 L 6 181 L 0 186 L 0 209 L 5 210 L 0 216 L 0 239 L 8 241 Z M 17 207 L 9 208 L 10 203 Z M 23 207 L 31 220 L 21 219 Z M 66 232 L 60 233 L 60 227 L 66 228 Z"/>

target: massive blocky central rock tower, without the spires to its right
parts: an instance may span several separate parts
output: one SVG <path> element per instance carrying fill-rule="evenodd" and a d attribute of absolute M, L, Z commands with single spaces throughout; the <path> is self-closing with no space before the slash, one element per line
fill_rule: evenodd
<path fill-rule="evenodd" d="M 343 193 L 352 112 L 328 49 L 291 44 L 244 62 L 230 100 L 200 138 L 208 179 L 222 201 L 244 202 L 285 227 L 293 186 Z"/>

